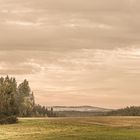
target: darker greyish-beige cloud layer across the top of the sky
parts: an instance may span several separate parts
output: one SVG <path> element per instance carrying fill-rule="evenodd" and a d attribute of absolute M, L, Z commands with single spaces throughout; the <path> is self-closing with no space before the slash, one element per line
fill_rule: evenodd
<path fill-rule="evenodd" d="M 1 49 L 112 49 L 139 44 L 138 0 L 0 4 Z"/>

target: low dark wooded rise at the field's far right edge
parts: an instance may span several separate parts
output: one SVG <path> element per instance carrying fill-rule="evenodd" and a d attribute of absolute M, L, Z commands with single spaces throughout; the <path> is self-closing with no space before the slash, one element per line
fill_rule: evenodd
<path fill-rule="evenodd" d="M 108 116 L 140 116 L 140 107 L 131 106 L 107 112 Z"/>

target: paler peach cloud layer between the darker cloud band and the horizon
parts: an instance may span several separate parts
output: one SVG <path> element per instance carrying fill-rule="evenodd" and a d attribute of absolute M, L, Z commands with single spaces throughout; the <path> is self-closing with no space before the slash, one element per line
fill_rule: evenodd
<path fill-rule="evenodd" d="M 62 101 L 64 99 L 69 101 L 68 104 L 73 104 L 68 99 L 72 96 L 76 97 L 79 104 L 88 101 L 92 104 L 93 100 L 102 100 L 106 104 L 107 99 L 120 100 L 123 94 L 120 102 L 122 106 L 126 96 L 132 96 L 133 93 L 137 97 L 139 94 L 139 58 L 140 49 L 137 46 L 63 52 L 1 51 L 0 74 L 16 76 L 18 82 L 26 77 L 36 93 L 37 102 L 44 105 L 52 105 L 54 102 L 65 104 Z M 45 101 L 52 96 L 63 99 L 54 99 L 52 103 Z"/>

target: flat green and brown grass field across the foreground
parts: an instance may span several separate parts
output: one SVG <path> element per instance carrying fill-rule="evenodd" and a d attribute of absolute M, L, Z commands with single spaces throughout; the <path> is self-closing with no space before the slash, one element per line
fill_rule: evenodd
<path fill-rule="evenodd" d="M 140 140 L 139 117 L 19 119 L 0 140 Z"/>

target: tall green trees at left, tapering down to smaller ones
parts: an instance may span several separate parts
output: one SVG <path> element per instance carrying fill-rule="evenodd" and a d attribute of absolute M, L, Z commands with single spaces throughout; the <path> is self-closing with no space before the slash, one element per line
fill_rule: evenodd
<path fill-rule="evenodd" d="M 17 85 L 15 78 L 6 76 L 0 78 L 0 118 L 5 116 L 53 116 L 53 109 L 35 103 L 27 80 Z"/>

